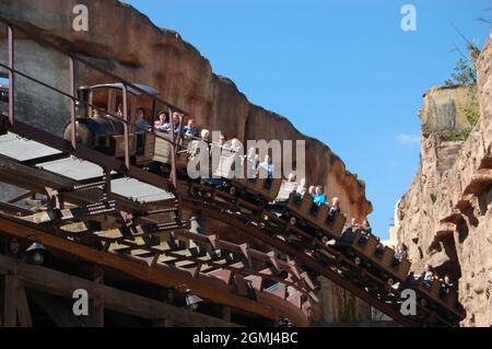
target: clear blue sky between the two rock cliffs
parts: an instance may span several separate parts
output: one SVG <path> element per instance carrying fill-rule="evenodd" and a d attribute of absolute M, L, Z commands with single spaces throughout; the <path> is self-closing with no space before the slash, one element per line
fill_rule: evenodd
<path fill-rule="evenodd" d="M 232 79 L 254 104 L 326 142 L 366 182 L 375 232 L 387 237 L 394 207 L 419 165 L 422 94 L 453 71 L 464 39 L 481 47 L 477 21 L 492 0 L 130 0 Z M 417 8 L 417 32 L 400 9 Z"/>

